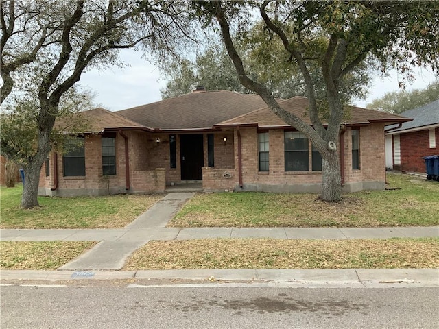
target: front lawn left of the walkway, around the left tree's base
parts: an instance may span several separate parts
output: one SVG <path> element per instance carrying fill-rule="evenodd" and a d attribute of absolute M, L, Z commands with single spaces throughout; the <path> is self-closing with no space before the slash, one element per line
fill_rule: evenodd
<path fill-rule="evenodd" d="M 0 188 L 0 228 L 123 228 L 162 197 L 38 197 L 41 207 L 24 210 L 22 188 Z"/>

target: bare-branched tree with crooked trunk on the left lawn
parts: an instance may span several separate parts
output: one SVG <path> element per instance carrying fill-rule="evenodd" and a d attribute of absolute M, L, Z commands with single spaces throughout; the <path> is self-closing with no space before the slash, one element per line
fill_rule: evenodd
<path fill-rule="evenodd" d="M 10 102 L 12 123 L 36 130 L 26 136 L 34 143 L 33 156 L 20 160 L 27 177 L 23 208 L 38 206 L 39 174 L 62 97 L 86 69 L 123 65 L 119 49 L 143 49 L 159 60 L 175 55 L 191 39 L 186 9 L 182 2 L 160 0 L 1 0 L 1 103 Z M 32 121 L 23 117 L 28 110 Z"/>

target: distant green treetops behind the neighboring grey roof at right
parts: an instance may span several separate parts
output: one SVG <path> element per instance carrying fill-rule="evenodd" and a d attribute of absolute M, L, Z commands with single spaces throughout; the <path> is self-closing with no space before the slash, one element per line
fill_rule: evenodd
<path fill-rule="evenodd" d="M 439 80 L 431 82 L 423 89 L 411 91 L 392 91 L 385 93 L 383 97 L 374 99 L 368 103 L 367 108 L 390 113 L 402 113 L 424 106 L 439 99 Z"/>

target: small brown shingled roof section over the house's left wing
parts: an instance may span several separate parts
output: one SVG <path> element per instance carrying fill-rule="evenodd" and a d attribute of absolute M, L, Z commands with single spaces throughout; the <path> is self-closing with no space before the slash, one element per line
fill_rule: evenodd
<path fill-rule="evenodd" d="M 115 112 L 110 112 L 104 108 L 94 108 L 86 112 L 81 112 L 88 123 L 87 132 L 104 132 L 104 130 L 111 130 L 116 128 L 130 128 L 130 129 L 144 129 L 142 125 L 121 117 Z"/>

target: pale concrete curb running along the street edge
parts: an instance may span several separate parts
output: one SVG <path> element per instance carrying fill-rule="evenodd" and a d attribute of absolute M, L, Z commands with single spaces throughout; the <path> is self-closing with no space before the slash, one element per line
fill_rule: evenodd
<path fill-rule="evenodd" d="M 177 269 L 139 271 L 1 270 L 0 280 L 202 280 L 276 287 L 439 287 L 439 269 Z M 163 283 L 167 285 L 169 283 Z M 172 283 L 175 286 L 175 282 Z"/>

